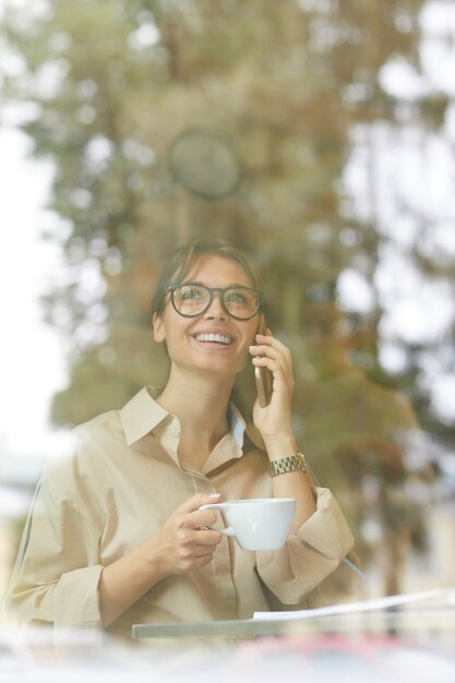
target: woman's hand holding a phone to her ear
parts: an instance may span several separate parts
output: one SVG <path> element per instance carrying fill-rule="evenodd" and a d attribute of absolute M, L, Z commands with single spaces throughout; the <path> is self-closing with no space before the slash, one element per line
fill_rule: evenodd
<path fill-rule="evenodd" d="M 294 395 L 294 372 L 290 350 L 270 329 L 265 335 L 258 334 L 256 344 L 250 347 L 253 366 L 267 368 L 273 374 L 272 398 L 262 408 L 256 398 L 253 420 L 265 442 L 292 435 L 291 406 Z"/>

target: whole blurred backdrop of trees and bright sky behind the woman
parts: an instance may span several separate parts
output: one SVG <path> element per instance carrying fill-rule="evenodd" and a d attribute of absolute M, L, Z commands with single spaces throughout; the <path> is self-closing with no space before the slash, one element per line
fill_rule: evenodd
<path fill-rule="evenodd" d="M 455 3 L 3 0 L 0 56 L 0 596 L 45 457 L 163 381 L 193 237 L 262 268 L 367 595 L 453 586 Z"/>

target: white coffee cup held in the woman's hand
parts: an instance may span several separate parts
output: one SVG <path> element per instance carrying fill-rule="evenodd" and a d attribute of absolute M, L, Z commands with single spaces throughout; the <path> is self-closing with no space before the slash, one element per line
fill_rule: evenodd
<path fill-rule="evenodd" d="M 276 550 L 289 535 L 296 515 L 294 498 L 252 498 L 208 503 L 200 510 L 219 510 L 226 528 L 211 527 L 232 536 L 243 550 Z"/>

